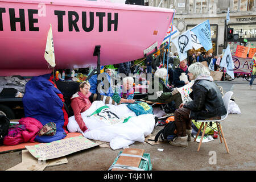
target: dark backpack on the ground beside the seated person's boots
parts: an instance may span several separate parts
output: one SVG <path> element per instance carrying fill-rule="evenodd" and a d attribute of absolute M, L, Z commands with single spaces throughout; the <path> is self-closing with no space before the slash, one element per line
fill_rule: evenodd
<path fill-rule="evenodd" d="M 163 142 L 164 140 L 171 141 L 175 137 L 177 137 L 176 133 L 177 133 L 177 130 L 176 130 L 175 122 L 170 121 L 167 123 L 166 126 L 164 126 L 162 130 L 158 132 L 158 134 L 155 135 L 155 142 L 157 142 L 158 140 L 160 142 Z"/>

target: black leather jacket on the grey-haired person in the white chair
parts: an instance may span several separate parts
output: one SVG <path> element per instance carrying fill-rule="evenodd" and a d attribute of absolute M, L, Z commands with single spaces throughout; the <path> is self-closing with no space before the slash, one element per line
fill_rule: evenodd
<path fill-rule="evenodd" d="M 193 101 L 186 102 L 183 107 L 191 109 L 190 118 L 207 119 L 226 114 L 220 89 L 213 81 L 196 80 L 189 94 Z"/>

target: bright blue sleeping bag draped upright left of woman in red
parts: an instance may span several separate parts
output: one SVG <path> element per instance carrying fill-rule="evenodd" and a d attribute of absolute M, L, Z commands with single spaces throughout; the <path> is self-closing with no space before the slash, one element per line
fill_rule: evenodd
<path fill-rule="evenodd" d="M 50 76 L 51 74 L 32 77 L 26 84 L 26 92 L 22 99 L 25 117 L 38 119 L 42 125 L 48 122 L 56 123 L 56 134 L 52 137 L 36 136 L 35 140 L 42 143 L 53 142 L 67 136 L 63 129 L 63 102 L 57 96 L 61 92 L 48 81 Z"/>

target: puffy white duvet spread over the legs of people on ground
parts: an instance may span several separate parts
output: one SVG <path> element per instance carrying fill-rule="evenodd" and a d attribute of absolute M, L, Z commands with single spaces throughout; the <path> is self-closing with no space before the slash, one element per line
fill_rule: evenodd
<path fill-rule="evenodd" d="M 77 124 L 75 117 L 69 117 L 68 130 L 69 132 L 79 132 L 84 137 L 94 140 L 101 140 L 103 142 L 109 142 L 110 147 L 113 150 L 129 146 L 134 142 L 144 142 L 144 137 L 150 135 L 155 126 L 155 119 L 153 114 L 143 114 L 136 116 L 126 104 L 110 105 L 110 111 L 115 113 L 119 118 L 131 117 L 126 123 L 115 123 L 110 125 L 107 122 L 101 121 L 91 115 L 99 107 L 105 106 L 102 101 L 94 101 L 92 106 L 88 110 L 81 113 L 82 119 L 85 122 L 86 127 L 90 131 L 83 133 L 79 125 Z"/>

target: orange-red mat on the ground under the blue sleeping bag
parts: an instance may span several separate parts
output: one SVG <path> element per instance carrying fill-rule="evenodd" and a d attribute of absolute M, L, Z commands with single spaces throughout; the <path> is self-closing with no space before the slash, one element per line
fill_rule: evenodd
<path fill-rule="evenodd" d="M 77 137 L 82 135 L 81 133 L 68 133 L 67 137 L 63 138 L 71 138 L 71 137 Z M 15 146 L 0 146 L 0 154 L 6 153 L 6 152 L 13 152 L 13 151 L 19 151 L 26 149 L 25 146 L 34 146 L 35 144 L 40 144 L 39 142 L 26 142 L 26 143 L 20 143 Z"/>

